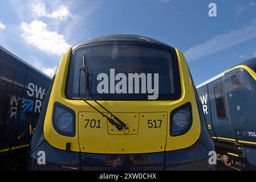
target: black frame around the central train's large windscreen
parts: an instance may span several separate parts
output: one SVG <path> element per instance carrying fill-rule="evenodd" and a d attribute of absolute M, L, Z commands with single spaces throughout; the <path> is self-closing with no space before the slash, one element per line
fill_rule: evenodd
<path fill-rule="evenodd" d="M 97 46 L 98 44 L 106 44 L 106 43 L 132 43 L 132 44 L 138 44 L 138 45 L 143 45 L 145 47 L 149 47 L 149 48 L 155 48 L 155 49 L 160 49 L 161 51 L 166 51 L 169 52 L 170 55 L 172 56 L 173 61 L 173 71 L 174 71 L 174 77 L 177 77 L 176 79 L 174 79 L 174 87 L 175 87 L 175 93 L 173 94 L 174 97 L 172 99 L 166 100 L 166 99 L 157 99 L 157 100 L 149 100 L 149 101 L 176 101 L 178 99 L 180 99 L 181 94 L 182 94 L 182 90 L 181 90 L 181 77 L 180 77 L 180 65 L 178 63 L 178 56 L 176 53 L 176 50 L 173 47 L 170 46 L 166 46 L 163 44 L 157 44 L 157 43 L 144 43 L 144 42 L 136 42 L 136 41 L 108 41 L 108 42 L 100 42 L 100 43 L 91 43 L 91 44 L 87 44 L 87 45 L 83 45 L 83 46 L 79 46 L 76 47 L 75 49 L 72 50 L 71 56 L 70 56 L 70 60 L 68 63 L 68 72 L 67 72 L 67 77 L 66 77 L 66 85 L 65 85 L 65 96 L 68 100 L 81 100 L 80 98 L 74 98 L 74 97 L 70 97 L 68 96 L 68 82 L 70 82 L 70 68 L 71 68 L 71 61 L 72 61 L 72 55 L 75 51 L 77 51 L 80 48 L 84 48 L 87 46 Z M 90 98 L 87 98 L 87 100 L 91 100 Z M 148 100 L 127 100 L 127 99 L 123 99 L 123 100 L 99 100 L 99 101 L 148 101 Z"/>

